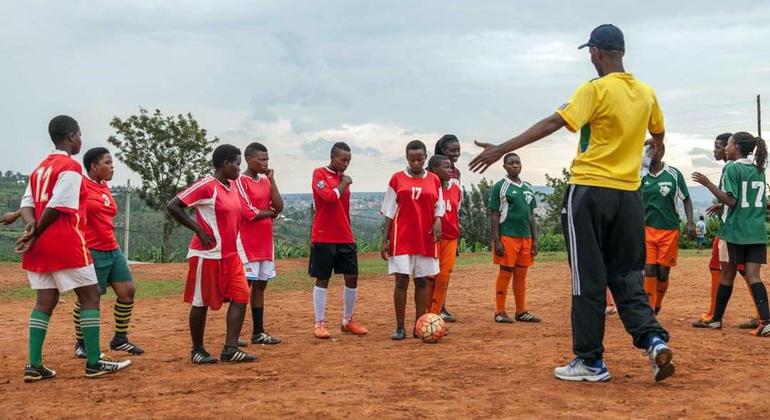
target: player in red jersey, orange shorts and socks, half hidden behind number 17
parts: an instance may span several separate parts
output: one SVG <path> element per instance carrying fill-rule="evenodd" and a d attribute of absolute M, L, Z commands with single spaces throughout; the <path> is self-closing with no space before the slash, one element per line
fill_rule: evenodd
<path fill-rule="evenodd" d="M 444 217 L 441 218 L 441 240 L 438 243 L 439 273 L 428 278 L 428 312 L 439 314 L 444 306 L 449 275 L 457 260 L 457 238 L 460 236 L 458 211 L 462 202 L 460 185 L 453 179 L 452 164 L 444 155 L 433 155 L 428 170 L 441 180 Z"/>

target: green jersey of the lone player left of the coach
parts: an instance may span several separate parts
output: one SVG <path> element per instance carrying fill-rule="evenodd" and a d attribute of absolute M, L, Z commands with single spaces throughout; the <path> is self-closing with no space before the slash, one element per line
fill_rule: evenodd
<path fill-rule="evenodd" d="M 536 207 L 535 190 L 528 182 L 517 184 L 505 177 L 489 194 L 489 209 L 500 212 L 500 236 L 531 237 L 529 216 Z"/>

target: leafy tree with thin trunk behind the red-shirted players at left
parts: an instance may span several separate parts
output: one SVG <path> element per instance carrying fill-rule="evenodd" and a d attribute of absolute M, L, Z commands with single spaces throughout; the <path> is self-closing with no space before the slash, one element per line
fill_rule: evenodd
<path fill-rule="evenodd" d="M 219 139 L 208 140 L 192 114 L 164 116 L 140 107 L 139 115 L 113 117 L 110 126 L 117 135 L 107 141 L 118 149 L 115 156 L 142 178 L 139 197 L 154 210 L 165 213 L 166 202 L 211 172 L 209 155 Z M 166 214 L 160 250 L 164 261 L 174 226 Z"/>

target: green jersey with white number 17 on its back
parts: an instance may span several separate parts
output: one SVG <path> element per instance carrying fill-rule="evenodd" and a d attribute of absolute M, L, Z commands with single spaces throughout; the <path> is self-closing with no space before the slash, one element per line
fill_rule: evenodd
<path fill-rule="evenodd" d="M 735 197 L 735 207 L 725 206 L 722 239 L 738 245 L 767 242 L 765 173 L 748 159 L 726 167 L 722 191 Z"/>

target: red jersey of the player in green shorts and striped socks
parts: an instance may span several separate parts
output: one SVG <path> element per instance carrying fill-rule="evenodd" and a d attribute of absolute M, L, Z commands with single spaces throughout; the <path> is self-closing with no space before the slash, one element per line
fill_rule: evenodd
<path fill-rule="evenodd" d="M 106 182 L 96 182 L 83 176 L 86 188 L 86 244 L 88 249 L 114 251 L 120 247 L 115 239 L 113 219 L 118 205 Z"/>

